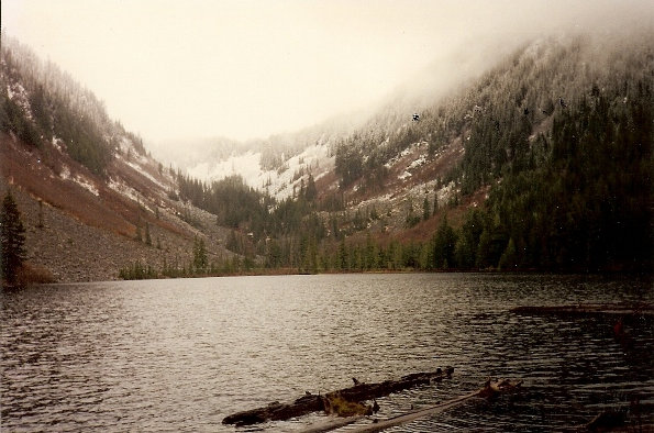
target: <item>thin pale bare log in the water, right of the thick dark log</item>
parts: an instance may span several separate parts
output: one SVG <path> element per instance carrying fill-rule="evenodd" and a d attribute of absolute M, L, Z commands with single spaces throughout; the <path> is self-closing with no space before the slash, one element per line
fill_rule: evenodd
<path fill-rule="evenodd" d="M 495 396 L 497 393 L 507 393 L 507 392 L 513 392 L 517 389 L 520 388 L 520 386 L 522 385 L 522 381 L 514 381 L 514 380 L 508 380 L 508 379 L 499 379 L 499 380 L 487 380 L 484 388 L 478 389 L 474 392 L 467 393 L 465 396 L 462 397 L 457 397 L 453 400 L 448 400 L 435 406 L 430 406 L 429 408 L 423 408 L 423 409 L 419 409 L 409 413 L 404 413 L 398 417 L 393 417 L 390 418 L 388 420 L 385 421 L 379 421 L 379 422 L 374 422 L 372 424 L 368 425 L 363 425 L 358 429 L 353 429 L 350 432 L 357 432 L 357 433 L 370 433 L 370 432 L 379 432 L 386 429 L 390 429 L 392 426 L 396 425 L 401 425 L 401 424 L 406 424 L 408 422 L 411 421 L 415 421 L 420 418 L 424 418 L 424 417 L 429 417 L 432 415 L 434 413 L 440 413 L 443 412 L 447 409 L 457 407 L 459 404 L 462 404 L 463 402 L 473 399 L 473 398 L 478 398 L 478 397 L 491 397 Z M 361 417 L 358 418 L 361 419 Z M 330 424 L 330 423 L 325 423 L 322 424 L 321 426 L 313 426 L 310 428 L 308 430 L 304 430 L 303 433 L 323 433 L 323 432 L 328 432 L 334 429 L 339 429 L 341 426 L 351 424 L 355 421 L 358 421 L 358 419 L 353 419 L 353 420 L 344 420 L 343 423 L 341 424 Z M 345 423 L 347 421 L 347 423 Z"/>

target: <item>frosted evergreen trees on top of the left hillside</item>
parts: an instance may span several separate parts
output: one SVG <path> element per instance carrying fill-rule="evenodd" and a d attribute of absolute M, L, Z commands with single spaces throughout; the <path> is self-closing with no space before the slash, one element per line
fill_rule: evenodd
<path fill-rule="evenodd" d="M 18 41 L 3 34 L 2 42 L 2 82 L 13 85 L 0 89 L 0 131 L 44 151 L 56 137 L 56 145 L 98 176 L 106 175 L 118 136 L 132 136 L 136 151 L 145 154 L 143 140 L 111 121 L 90 90 Z"/>

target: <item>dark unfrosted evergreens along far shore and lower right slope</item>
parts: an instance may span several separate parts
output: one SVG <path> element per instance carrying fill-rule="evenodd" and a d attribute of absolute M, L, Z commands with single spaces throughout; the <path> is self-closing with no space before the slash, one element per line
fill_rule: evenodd
<path fill-rule="evenodd" d="M 376 210 L 365 216 L 361 210 L 320 212 L 311 182 L 280 202 L 266 202 L 237 178 L 219 182 L 220 188 L 193 185 L 222 197 L 217 206 L 235 208 L 228 247 L 263 257 L 261 266 L 269 269 L 643 270 L 652 251 L 652 114 L 651 80 L 590 86 L 578 101 L 552 113 L 550 133 L 524 136 L 523 144 L 507 151 L 501 182 L 494 182 L 484 207 L 470 210 L 458 227 L 443 219 L 430 240 L 418 243 L 375 233 L 365 242 L 347 237 L 366 231 L 366 222 L 379 218 Z M 462 166 L 465 178 L 472 166 Z M 239 201 L 239 190 L 252 199 Z M 202 197 L 195 203 L 211 202 Z M 239 229 L 252 230 L 253 214 L 259 215 L 261 229 L 247 238 Z M 431 215 L 425 199 L 407 224 Z"/>

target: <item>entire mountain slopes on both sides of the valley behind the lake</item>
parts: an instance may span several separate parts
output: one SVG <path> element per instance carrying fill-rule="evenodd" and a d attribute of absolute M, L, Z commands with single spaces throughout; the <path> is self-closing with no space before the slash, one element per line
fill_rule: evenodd
<path fill-rule="evenodd" d="M 647 270 L 653 46 L 652 31 L 513 45 L 345 122 L 208 140 L 182 171 L 3 35 L 2 189 L 25 220 L 29 270 L 62 281 Z"/>

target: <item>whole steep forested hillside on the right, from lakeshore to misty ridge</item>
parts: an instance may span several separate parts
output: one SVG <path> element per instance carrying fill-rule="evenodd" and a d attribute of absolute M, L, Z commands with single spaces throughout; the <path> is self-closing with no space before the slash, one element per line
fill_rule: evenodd
<path fill-rule="evenodd" d="M 280 200 L 256 251 L 309 270 L 647 268 L 653 43 L 651 31 L 534 41 L 277 170 L 232 155 L 230 174 L 247 160 Z"/>

